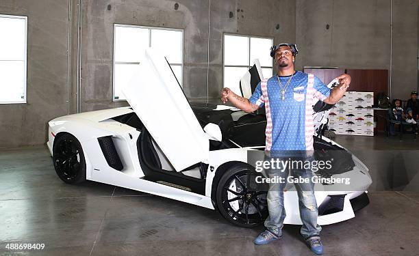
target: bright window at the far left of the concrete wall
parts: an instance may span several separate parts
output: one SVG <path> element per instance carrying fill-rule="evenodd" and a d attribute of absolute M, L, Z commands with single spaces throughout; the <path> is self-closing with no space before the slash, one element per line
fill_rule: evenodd
<path fill-rule="evenodd" d="M 0 104 L 26 103 L 27 17 L 0 15 Z"/>

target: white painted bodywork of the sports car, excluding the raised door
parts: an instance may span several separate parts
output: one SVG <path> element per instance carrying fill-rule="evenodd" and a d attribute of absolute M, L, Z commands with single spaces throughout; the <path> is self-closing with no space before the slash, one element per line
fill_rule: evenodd
<path fill-rule="evenodd" d="M 109 112 L 110 115 L 118 115 L 118 113 L 123 113 L 123 111 L 110 110 Z M 105 115 L 105 113 L 103 113 L 103 115 Z M 212 185 L 216 172 L 218 171 L 218 167 L 228 162 L 247 162 L 248 150 L 255 150 L 255 148 L 260 149 L 260 147 L 238 147 L 211 151 L 209 153 L 208 162 L 209 170 L 207 171 L 207 177 L 205 180 L 205 195 L 199 195 L 183 189 L 144 180 L 144 174 L 142 173 L 142 169 L 138 162 L 138 152 L 136 150 L 136 140 L 138 139 L 140 132 L 134 128 L 130 128 L 129 126 L 127 128 L 124 124 L 113 124 L 112 126 L 107 124 L 107 126 L 104 126 L 103 123 L 111 122 L 109 120 L 103 120 L 102 122 L 95 123 L 89 119 L 88 113 L 85 113 L 84 117 L 79 119 L 77 118 L 77 115 L 73 115 L 71 118 L 59 117 L 53 121 L 66 120 L 67 122 L 51 122 L 51 124 L 54 125 L 50 127 L 50 129 L 53 128 L 54 131 L 65 131 L 71 134 L 77 134 L 77 136 L 84 138 L 81 140 L 81 145 L 86 158 L 87 180 L 138 190 L 144 193 L 159 195 L 210 209 L 214 209 L 211 195 L 213 192 Z M 77 122 L 75 122 L 75 120 L 77 120 Z M 75 124 L 71 124 L 72 122 L 75 122 Z M 100 127 L 117 126 L 120 127 L 119 130 L 111 130 L 110 128 L 107 128 L 107 130 L 99 129 Z M 103 154 L 101 154 L 101 149 L 97 143 L 97 139 L 94 139 L 94 137 L 101 137 L 102 135 L 105 136 L 108 134 L 112 134 L 112 138 L 118 148 L 118 154 L 121 156 L 121 160 L 124 165 L 124 169 L 122 171 L 116 171 L 107 166 L 105 158 L 103 157 Z M 132 139 L 129 138 L 129 134 L 132 135 Z M 328 138 L 322 137 L 322 140 L 342 147 Z M 53 141 L 49 141 L 48 143 L 49 145 L 53 145 Z M 342 147 L 342 149 L 344 149 L 344 147 Z M 324 189 L 316 188 L 315 196 L 318 206 L 322 203 L 323 199 L 327 197 L 327 195 L 346 195 L 344 210 L 342 212 L 319 216 L 319 225 L 338 223 L 355 216 L 353 209 L 351 208 L 351 204 L 347 201 L 357 195 L 360 195 L 361 193 L 364 193 L 364 190 L 368 188 L 372 181 L 368 173 L 368 168 L 355 156 L 353 156 L 353 158 L 357 165 L 351 173 L 346 173 L 346 175 L 352 178 L 361 178 L 361 182 L 356 182 L 355 184 L 357 184 L 357 186 L 354 187 L 353 190 L 334 191 L 329 189 L 330 191 L 324 191 Z M 213 167 L 213 171 L 211 171 L 211 167 Z M 339 175 L 333 175 L 333 177 L 339 177 Z M 289 190 L 284 194 L 284 203 L 285 210 L 287 211 L 287 217 L 285 218 L 284 223 L 300 225 L 301 218 L 298 210 L 298 197 L 294 190 Z"/>

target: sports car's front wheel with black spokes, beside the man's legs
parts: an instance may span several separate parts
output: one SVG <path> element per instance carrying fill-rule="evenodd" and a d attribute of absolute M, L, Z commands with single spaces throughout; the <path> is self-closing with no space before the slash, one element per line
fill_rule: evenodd
<path fill-rule="evenodd" d="M 253 167 L 234 165 L 220 178 L 216 190 L 218 211 L 240 227 L 255 227 L 268 216 L 267 192 L 250 189 L 252 175 Z"/>

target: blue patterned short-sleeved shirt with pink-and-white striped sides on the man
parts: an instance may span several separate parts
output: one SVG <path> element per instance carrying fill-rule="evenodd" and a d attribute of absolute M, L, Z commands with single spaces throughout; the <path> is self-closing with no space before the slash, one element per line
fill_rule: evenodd
<path fill-rule="evenodd" d="M 281 100 L 278 77 L 283 88 L 291 78 L 275 75 L 264 79 L 249 99 L 257 106 L 265 106 L 265 151 L 314 150 L 314 98 L 325 100 L 330 89 L 313 74 L 297 71 L 285 91 L 285 100 Z"/>

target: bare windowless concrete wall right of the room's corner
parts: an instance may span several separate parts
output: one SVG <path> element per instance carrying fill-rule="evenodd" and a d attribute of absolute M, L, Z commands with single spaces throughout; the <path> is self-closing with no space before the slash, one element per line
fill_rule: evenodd
<path fill-rule="evenodd" d="M 410 91 L 418 87 L 418 3 L 417 0 L 392 0 L 392 4 L 390 0 L 297 0 L 299 68 L 335 66 L 390 72 L 392 57 L 392 98 L 408 98 Z"/>

